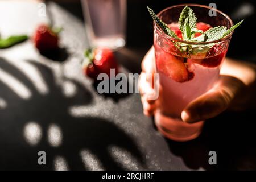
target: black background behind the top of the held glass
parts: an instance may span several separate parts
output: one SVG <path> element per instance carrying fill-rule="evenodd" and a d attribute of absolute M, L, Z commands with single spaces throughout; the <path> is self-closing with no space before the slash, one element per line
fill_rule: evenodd
<path fill-rule="evenodd" d="M 68 9 L 77 17 L 83 19 L 80 1 L 56 1 L 61 6 Z M 228 57 L 253 61 L 256 63 L 254 30 L 256 30 L 256 2 L 253 0 L 234 0 L 234 1 L 171 1 L 171 0 L 127 0 L 127 47 L 145 52 L 153 43 L 152 19 L 147 11 L 147 6 L 152 7 L 155 12 L 164 8 L 181 3 L 197 3 L 209 5 L 216 3 L 217 9 L 229 15 L 234 24 L 245 19 L 240 28 L 237 28 L 232 36 L 229 46 Z M 242 13 L 241 13 L 242 12 Z M 136 70 L 139 71 L 139 70 Z"/>

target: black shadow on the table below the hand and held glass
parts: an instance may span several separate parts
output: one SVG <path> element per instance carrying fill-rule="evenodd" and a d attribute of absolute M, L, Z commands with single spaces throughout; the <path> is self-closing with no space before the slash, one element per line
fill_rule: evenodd
<path fill-rule="evenodd" d="M 255 170 L 255 111 L 225 112 L 205 122 L 203 132 L 189 142 L 167 140 L 171 152 L 190 169 Z M 217 164 L 210 165 L 209 151 L 216 151 Z"/>

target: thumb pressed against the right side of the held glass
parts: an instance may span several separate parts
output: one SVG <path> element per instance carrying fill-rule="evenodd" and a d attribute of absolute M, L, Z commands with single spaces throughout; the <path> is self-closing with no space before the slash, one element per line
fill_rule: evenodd
<path fill-rule="evenodd" d="M 243 82 L 237 78 L 222 75 L 214 88 L 185 107 L 181 118 L 188 123 L 213 118 L 228 108 L 243 87 Z"/>

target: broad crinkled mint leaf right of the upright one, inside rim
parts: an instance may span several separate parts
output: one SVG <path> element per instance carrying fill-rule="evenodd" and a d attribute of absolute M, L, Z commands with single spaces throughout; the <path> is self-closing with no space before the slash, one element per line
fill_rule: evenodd
<path fill-rule="evenodd" d="M 221 39 L 225 32 L 226 27 L 224 26 L 209 28 L 207 31 L 204 32 L 204 34 L 207 36 L 207 40 L 205 40 L 205 42 Z"/>

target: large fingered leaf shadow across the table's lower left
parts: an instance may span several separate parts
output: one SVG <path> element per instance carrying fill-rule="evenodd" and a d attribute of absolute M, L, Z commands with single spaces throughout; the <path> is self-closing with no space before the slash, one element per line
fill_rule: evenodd
<path fill-rule="evenodd" d="M 6 102 L 5 107 L 0 105 L 0 169 L 52 170 L 58 165 L 71 170 L 125 169 L 110 152 L 111 146 L 130 152 L 143 166 L 142 154 L 134 140 L 113 122 L 90 115 L 77 117 L 69 112 L 72 106 L 89 105 L 93 101 L 86 86 L 66 78 L 76 86 L 75 95 L 66 97 L 51 69 L 34 60 L 26 62 L 42 75 L 48 93 L 39 93 L 23 72 L 0 58 L 0 68 L 32 93 L 30 98 L 20 98 L 2 82 L 0 75 L 0 98 Z M 47 165 L 38 164 L 41 150 L 46 151 Z M 87 152 L 85 158 L 90 158 L 83 160 L 82 151 Z M 56 160 L 60 163 L 55 163 Z"/>

